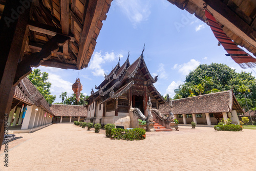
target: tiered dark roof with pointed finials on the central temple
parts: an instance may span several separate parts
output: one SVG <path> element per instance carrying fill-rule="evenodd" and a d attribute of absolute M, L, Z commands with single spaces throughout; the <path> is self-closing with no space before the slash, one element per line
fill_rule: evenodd
<path fill-rule="evenodd" d="M 143 51 L 140 57 L 137 58 L 132 65 L 130 65 L 129 62 L 130 54 L 121 67 L 118 61 L 116 67 L 110 72 L 110 74 L 105 76 L 105 79 L 100 83 L 100 85 L 98 87 L 95 86 L 98 91 L 95 93 L 92 92 L 91 96 L 87 99 L 89 101 L 88 104 L 91 104 L 93 100 L 97 100 L 100 97 L 103 97 L 101 103 L 120 97 L 135 83 L 133 78 L 138 71 L 142 72 L 143 79 L 147 81 L 146 84 L 149 92 L 152 93 L 160 104 L 165 103 L 162 95 L 153 86 L 153 83 L 157 81 L 158 76 L 156 76 L 155 79 L 151 76 L 143 59 Z"/>

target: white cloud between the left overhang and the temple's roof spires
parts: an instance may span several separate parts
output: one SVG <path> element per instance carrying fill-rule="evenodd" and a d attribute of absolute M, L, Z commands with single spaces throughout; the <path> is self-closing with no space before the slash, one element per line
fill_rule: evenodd
<path fill-rule="evenodd" d="M 102 64 L 105 62 L 111 62 L 115 59 L 123 57 L 123 55 L 115 55 L 114 52 L 106 52 L 105 55 L 101 55 L 100 52 L 95 52 L 93 58 L 90 61 L 90 66 L 88 67 L 89 70 L 93 70 L 92 73 L 94 76 L 104 76 L 104 69 L 102 68 Z"/>

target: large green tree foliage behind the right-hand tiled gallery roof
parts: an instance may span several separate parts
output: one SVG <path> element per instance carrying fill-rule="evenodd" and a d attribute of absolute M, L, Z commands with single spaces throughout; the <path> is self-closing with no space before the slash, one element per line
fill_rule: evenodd
<path fill-rule="evenodd" d="M 241 106 L 244 106 L 245 98 L 249 108 L 256 106 L 255 77 L 251 73 L 243 71 L 236 73 L 234 69 L 224 64 L 200 65 L 186 76 L 185 83 L 180 85 L 179 89 L 180 92 L 176 98 L 193 97 L 233 89 L 233 93 L 241 102 Z M 245 109 L 247 111 L 247 108 Z"/>

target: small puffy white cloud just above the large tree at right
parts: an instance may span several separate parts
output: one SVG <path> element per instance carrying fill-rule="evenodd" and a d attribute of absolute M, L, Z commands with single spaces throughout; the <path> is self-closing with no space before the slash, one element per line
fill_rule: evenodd
<path fill-rule="evenodd" d="M 200 65 L 200 61 L 191 59 L 187 63 L 183 63 L 181 65 L 175 64 L 173 69 L 178 69 L 178 72 L 182 75 L 188 75 L 190 71 L 195 70 Z"/>

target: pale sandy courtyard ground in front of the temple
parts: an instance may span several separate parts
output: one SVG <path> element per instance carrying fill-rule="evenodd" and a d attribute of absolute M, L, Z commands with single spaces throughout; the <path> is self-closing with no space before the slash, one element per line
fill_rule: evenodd
<path fill-rule="evenodd" d="M 53 124 L 16 137 L 8 143 L 8 168 L 0 152 L 0 170 L 256 170 L 255 130 L 180 126 L 124 141 L 106 138 L 103 130 Z"/>

